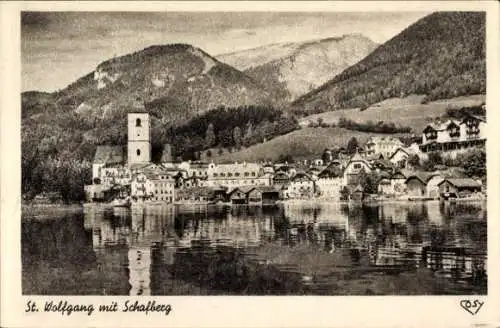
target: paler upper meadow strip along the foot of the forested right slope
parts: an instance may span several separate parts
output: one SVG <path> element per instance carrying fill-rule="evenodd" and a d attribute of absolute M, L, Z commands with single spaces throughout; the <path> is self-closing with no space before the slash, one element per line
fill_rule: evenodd
<path fill-rule="evenodd" d="M 370 106 L 364 111 L 358 109 L 343 109 L 321 114 L 309 115 L 300 120 L 302 126 L 309 122 L 317 122 L 321 117 L 323 122 L 331 124 L 339 118 L 365 123 L 367 121 L 394 122 L 396 125 L 410 126 L 418 134 L 425 125 L 437 116 L 442 116 L 448 108 L 461 108 L 480 105 L 485 101 L 485 95 L 457 97 L 453 99 L 438 100 L 428 104 L 420 104 L 424 96 L 410 96 L 403 99 L 391 98 Z M 425 115 L 422 115 L 425 113 Z"/>

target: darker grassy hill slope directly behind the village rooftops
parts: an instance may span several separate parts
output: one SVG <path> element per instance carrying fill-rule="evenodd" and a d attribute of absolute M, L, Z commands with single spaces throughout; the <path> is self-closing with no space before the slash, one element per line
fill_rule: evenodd
<path fill-rule="evenodd" d="M 282 154 L 290 154 L 295 159 L 309 158 L 311 156 L 321 156 L 325 148 L 345 147 L 352 137 L 356 137 L 358 142 L 363 143 L 372 135 L 382 134 L 364 133 L 341 128 L 305 127 L 238 152 L 214 156 L 213 160 L 221 162 L 277 160 Z M 402 136 L 402 134 L 393 136 Z"/>

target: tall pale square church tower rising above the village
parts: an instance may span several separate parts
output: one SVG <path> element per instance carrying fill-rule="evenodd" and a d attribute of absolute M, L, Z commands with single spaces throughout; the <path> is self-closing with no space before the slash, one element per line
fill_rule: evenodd
<path fill-rule="evenodd" d="M 128 113 L 128 165 L 143 164 L 151 161 L 149 133 L 149 114 L 145 112 Z"/>

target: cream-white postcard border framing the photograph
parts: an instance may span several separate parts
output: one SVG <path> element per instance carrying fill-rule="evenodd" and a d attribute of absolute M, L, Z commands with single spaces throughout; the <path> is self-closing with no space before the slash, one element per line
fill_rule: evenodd
<path fill-rule="evenodd" d="M 26 315 L 28 299 L 105 302 L 129 297 L 24 297 L 20 263 L 20 16 L 21 10 L 39 11 L 440 11 L 486 10 L 488 106 L 488 296 L 476 316 L 459 307 L 462 297 L 151 297 L 173 305 L 170 316 L 37 313 Z M 500 324 L 500 260 L 498 174 L 499 126 L 499 6 L 497 2 L 0 2 L 1 22 L 1 326 L 432 326 L 456 327 Z M 473 297 L 467 297 L 473 298 Z"/>

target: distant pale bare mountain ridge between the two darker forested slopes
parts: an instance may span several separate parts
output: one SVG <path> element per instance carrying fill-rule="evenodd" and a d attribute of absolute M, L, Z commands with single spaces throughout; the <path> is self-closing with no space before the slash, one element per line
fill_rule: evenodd
<path fill-rule="evenodd" d="M 219 55 L 286 105 L 356 63 L 378 45 L 362 34 L 274 43 Z"/>

